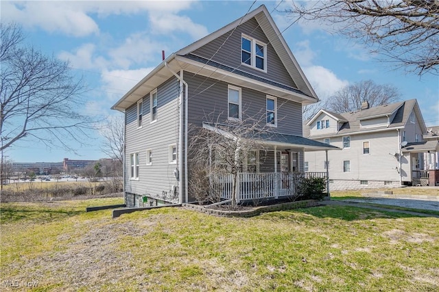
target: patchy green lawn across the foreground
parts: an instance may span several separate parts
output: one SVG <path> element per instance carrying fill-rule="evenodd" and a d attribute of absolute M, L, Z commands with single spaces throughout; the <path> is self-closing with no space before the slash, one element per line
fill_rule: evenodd
<path fill-rule="evenodd" d="M 2 203 L 0 290 L 439 291 L 438 218 L 333 206 L 84 212 L 118 203 Z"/>

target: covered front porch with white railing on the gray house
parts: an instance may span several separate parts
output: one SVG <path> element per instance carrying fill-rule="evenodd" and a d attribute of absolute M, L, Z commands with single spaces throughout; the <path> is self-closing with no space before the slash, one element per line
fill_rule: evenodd
<path fill-rule="evenodd" d="M 210 124 L 205 129 L 218 131 Z M 219 132 L 217 132 L 219 133 Z M 233 137 L 230 133 L 221 133 Z M 294 198 L 303 178 L 323 178 L 329 196 L 329 172 L 305 172 L 305 151 L 338 150 L 339 148 L 296 135 L 261 131 L 252 135 L 260 148 L 249 150 L 240 171 L 212 173 L 211 189 L 222 200 L 231 200 L 235 191 L 237 202 Z M 328 159 L 328 155 L 326 156 Z"/>

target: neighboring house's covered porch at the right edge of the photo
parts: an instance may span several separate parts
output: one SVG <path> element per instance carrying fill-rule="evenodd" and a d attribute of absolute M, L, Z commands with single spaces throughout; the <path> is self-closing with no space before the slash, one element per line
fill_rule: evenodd
<path fill-rule="evenodd" d="M 407 163 L 406 181 L 410 181 L 414 186 L 439 185 L 439 142 L 437 140 L 407 143 L 401 152 L 403 162 Z"/>

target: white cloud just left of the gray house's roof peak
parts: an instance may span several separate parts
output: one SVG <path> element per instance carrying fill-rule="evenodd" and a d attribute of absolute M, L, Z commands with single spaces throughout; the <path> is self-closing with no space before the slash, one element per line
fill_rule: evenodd
<path fill-rule="evenodd" d="M 204 25 L 193 23 L 187 16 L 176 14 L 150 14 L 152 31 L 155 34 L 169 34 L 174 31 L 182 31 L 189 34 L 193 39 L 198 40 L 208 34 Z"/>

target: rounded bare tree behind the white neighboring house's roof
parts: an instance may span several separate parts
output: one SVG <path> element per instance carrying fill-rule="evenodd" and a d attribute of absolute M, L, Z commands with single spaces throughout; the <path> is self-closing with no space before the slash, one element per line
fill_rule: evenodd
<path fill-rule="evenodd" d="M 361 103 L 369 107 L 385 105 L 398 101 L 400 94 L 392 85 L 380 85 L 371 80 L 360 81 L 338 90 L 329 98 L 327 109 L 336 113 L 357 111 Z"/>

